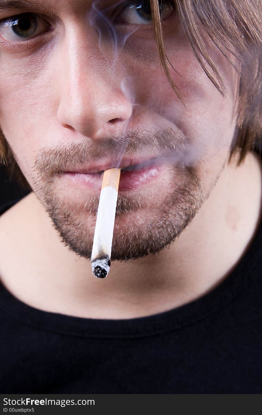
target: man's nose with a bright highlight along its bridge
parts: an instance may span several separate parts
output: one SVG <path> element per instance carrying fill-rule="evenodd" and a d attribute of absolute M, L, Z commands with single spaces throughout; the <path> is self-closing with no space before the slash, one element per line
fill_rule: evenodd
<path fill-rule="evenodd" d="M 121 134 L 132 115 L 131 100 L 120 88 L 120 77 L 103 67 L 99 48 L 94 51 L 92 41 L 80 39 L 72 31 L 60 47 L 58 122 L 94 140 Z"/>

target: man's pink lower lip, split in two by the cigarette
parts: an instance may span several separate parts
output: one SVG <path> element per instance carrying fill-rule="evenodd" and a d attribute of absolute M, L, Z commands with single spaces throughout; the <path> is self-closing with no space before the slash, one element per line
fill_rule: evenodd
<path fill-rule="evenodd" d="M 143 186 L 149 181 L 153 180 L 159 176 L 160 171 L 163 166 L 154 166 L 146 170 L 134 170 L 134 171 L 125 171 L 122 170 L 120 174 L 119 188 L 118 190 L 134 190 Z M 65 172 L 62 173 L 62 176 L 71 179 L 73 182 L 84 185 L 89 188 L 96 190 L 101 189 L 102 185 L 102 174 L 84 174 L 84 173 L 73 173 Z"/>

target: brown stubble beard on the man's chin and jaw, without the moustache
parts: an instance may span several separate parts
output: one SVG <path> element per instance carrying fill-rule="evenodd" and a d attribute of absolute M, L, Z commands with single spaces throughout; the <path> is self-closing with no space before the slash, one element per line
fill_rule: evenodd
<path fill-rule="evenodd" d="M 204 195 L 196 168 L 173 171 L 175 190 L 158 200 L 145 200 L 132 193 L 119 193 L 111 260 L 129 260 L 156 254 L 175 241 L 192 221 L 208 194 Z M 172 186 L 169 183 L 168 188 Z M 43 205 L 62 244 L 77 256 L 90 259 L 98 197 L 89 197 L 81 210 L 59 198 L 49 185 L 41 186 Z"/>

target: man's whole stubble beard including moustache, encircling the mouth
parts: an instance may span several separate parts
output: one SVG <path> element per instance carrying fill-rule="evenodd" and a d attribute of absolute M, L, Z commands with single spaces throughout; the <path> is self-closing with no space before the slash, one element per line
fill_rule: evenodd
<path fill-rule="evenodd" d="M 67 196 L 67 200 L 62 200 L 62 195 L 65 193 L 59 189 L 60 173 L 58 172 L 68 170 L 68 165 L 73 163 L 82 164 L 99 160 L 100 154 L 103 155 L 106 151 L 108 154 L 117 155 L 120 147 L 126 149 L 126 154 L 139 154 L 146 149 L 146 146 L 152 148 L 152 137 L 156 153 L 165 149 L 172 155 L 172 159 L 169 158 L 168 164 L 165 165 L 167 175 L 164 176 L 163 183 L 156 181 L 154 195 L 150 191 L 147 193 L 142 190 L 120 192 L 116 208 L 111 259 L 119 261 L 136 259 L 148 254 L 156 254 L 170 245 L 195 217 L 221 173 L 211 186 L 205 188 L 205 180 L 202 179 L 203 165 L 207 163 L 210 156 L 202 152 L 204 159 L 201 156 L 197 158 L 195 146 L 191 146 L 194 158 L 198 161 L 193 165 L 185 164 L 187 141 L 182 134 L 178 136 L 177 130 L 172 134 L 169 129 L 166 132 L 161 130 L 160 134 L 153 136 L 152 134 L 139 136 L 132 133 L 130 137 L 125 136 L 122 140 L 120 137 L 115 139 L 111 137 L 104 140 L 101 148 L 97 144 L 87 146 L 84 142 L 72 144 L 66 149 L 62 146 L 61 149 L 58 147 L 55 150 L 44 150 L 39 153 L 35 162 L 37 177 L 33 188 L 57 230 L 61 242 L 70 251 L 90 259 L 99 195 L 93 197 L 87 195 L 78 206 Z M 153 149 L 151 151 L 153 152 Z M 151 190 L 153 188 L 154 186 Z"/>

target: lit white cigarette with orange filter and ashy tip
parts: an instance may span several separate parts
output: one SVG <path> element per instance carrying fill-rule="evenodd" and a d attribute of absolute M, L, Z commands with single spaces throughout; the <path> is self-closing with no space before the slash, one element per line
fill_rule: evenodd
<path fill-rule="evenodd" d="M 120 168 L 110 168 L 103 173 L 91 254 L 92 272 L 97 278 L 106 278 L 111 265 L 119 178 Z"/>

